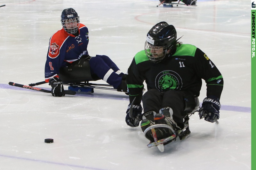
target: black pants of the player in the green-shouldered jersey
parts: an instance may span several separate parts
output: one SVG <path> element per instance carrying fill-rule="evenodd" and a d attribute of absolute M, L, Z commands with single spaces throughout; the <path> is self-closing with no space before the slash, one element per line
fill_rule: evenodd
<path fill-rule="evenodd" d="M 166 92 L 159 92 L 157 89 L 150 89 L 142 96 L 144 113 L 149 111 L 159 113 L 159 110 L 162 107 L 171 107 L 173 110 L 173 120 L 180 128 L 183 128 L 182 112 L 186 108 L 185 96 L 190 96 L 191 99 L 194 99 L 192 94 L 185 91 L 169 90 Z M 194 105 L 193 107 L 196 107 L 196 103 L 193 103 L 193 101 L 192 105 Z"/>

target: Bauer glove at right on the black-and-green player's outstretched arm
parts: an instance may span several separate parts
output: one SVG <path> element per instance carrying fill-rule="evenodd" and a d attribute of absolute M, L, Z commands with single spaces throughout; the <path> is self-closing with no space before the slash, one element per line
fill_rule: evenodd
<path fill-rule="evenodd" d="M 202 103 L 202 107 L 199 109 L 200 119 L 208 122 L 216 122 L 220 118 L 220 101 L 215 96 L 206 97 Z"/>

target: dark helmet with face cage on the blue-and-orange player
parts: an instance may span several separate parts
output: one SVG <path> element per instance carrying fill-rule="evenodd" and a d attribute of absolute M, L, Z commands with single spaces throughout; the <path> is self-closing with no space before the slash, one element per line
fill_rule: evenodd
<path fill-rule="evenodd" d="M 61 13 L 61 25 L 69 34 L 78 31 L 80 21 L 77 12 L 73 8 L 64 9 Z"/>

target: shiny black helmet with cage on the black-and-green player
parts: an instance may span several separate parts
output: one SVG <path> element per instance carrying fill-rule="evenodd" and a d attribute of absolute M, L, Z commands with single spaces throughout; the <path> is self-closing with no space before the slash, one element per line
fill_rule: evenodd
<path fill-rule="evenodd" d="M 174 26 L 166 22 L 159 22 L 153 26 L 145 42 L 145 52 L 148 59 L 159 63 L 166 55 L 173 55 L 176 51 L 177 32 Z"/>

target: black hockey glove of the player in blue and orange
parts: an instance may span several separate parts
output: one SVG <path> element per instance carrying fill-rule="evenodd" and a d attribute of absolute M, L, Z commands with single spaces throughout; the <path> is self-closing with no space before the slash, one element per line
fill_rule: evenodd
<path fill-rule="evenodd" d="M 58 77 L 53 77 L 49 80 L 49 85 L 52 86 L 52 96 L 61 97 L 65 96 L 64 87 L 62 81 Z"/>

